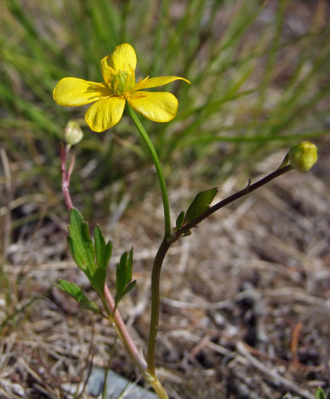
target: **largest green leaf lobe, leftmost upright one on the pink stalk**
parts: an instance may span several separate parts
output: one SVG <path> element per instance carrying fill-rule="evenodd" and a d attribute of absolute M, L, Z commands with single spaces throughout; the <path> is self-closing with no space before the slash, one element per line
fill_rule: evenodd
<path fill-rule="evenodd" d="M 68 244 L 71 255 L 94 286 L 93 277 L 96 271 L 94 245 L 89 234 L 88 224 L 76 208 L 72 208 L 70 211 L 68 229 L 70 233 Z"/>

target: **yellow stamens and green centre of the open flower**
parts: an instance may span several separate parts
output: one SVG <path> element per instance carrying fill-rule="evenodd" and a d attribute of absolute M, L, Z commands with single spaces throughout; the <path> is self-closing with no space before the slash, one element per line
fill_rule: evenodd
<path fill-rule="evenodd" d="M 128 65 L 129 72 L 126 71 L 125 63 L 123 65 L 123 71 L 119 69 L 118 72 L 115 72 L 113 68 L 108 67 L 107 73 L 103 75 L 105 83 L 109 86 L 110 90 L 113 94 L 118 95 L 120 98 L 125 99 L 133 93 L 133 91 L 137 90 L 137 86 L 139 83 L 145 81 L 145 79 L 141 79 L 135 84 L 135 70 L 131 65 Z M 141 95 L 141 97 L 144 97 Z"/>

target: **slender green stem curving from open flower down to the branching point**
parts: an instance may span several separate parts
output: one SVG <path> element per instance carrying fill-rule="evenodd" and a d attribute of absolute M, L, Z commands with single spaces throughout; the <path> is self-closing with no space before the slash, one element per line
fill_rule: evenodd
<path fill-rule="evenodd" d="M 129 103 L 127 103 L 127 101 L 126 101 L 125 108 L 126 108 L 128 115 L 133 120 L 137 130 L 139 130 L 139 133 L 141 134 L 145 144 L 147 144 L 147 147 L 151 154 L 151 158 L 153 160 L 153 163 L 155 164 L 159 184 L 161 186 L 161 196 L 163 198 L 164 217 L 165 217 L 165 239 L 168 239 L 171 236 L 171 217 L 170 217 L 170 212 L 169 212 L 169 198 L 167 196 L 167 189 L 166 189 L 165 178 L 163 175 L 163 169 L 159 162 L 159 158 L 158 158 L 157 152 L 155 150 L 155 147 L 153 146 L 147 132 L 145 131 L 145 128 L 142 126 L 142 124 L 139 121 L 139 119 L 137 118 L 133 108 L 129 105 Z"/>

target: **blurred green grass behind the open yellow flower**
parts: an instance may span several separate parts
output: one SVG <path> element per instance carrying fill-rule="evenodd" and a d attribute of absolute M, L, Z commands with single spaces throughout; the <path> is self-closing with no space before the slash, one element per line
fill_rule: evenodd
<path fill-rule="evenodd" d="M 326 7 L 324 0 L 3 0 L 0 138 L 20 165 L 24 190 L 60 190 L 58 148 L 69 119 L 84 130 L 72 192 L 86 211 L 96 192 L 119 182 L 123 193 L 131 172 L 151 166 L 125 114 L 95 133 L 84 121 L 87 106 L 61 107 L 52 98 L 63 77 L 102 81 L 100 60 L 123 42 L 135 48 L 138 79 L 177 75 L 192 83 L 155 89 L 178 98 L 174 120 L 141 117 L 168 177 L 184 168 L 191 179 L 220 184 L 276 148 L 323 136 L 330 123 Z M 78 171 L 92 159 L 95 169 L 83 180 Z"/>

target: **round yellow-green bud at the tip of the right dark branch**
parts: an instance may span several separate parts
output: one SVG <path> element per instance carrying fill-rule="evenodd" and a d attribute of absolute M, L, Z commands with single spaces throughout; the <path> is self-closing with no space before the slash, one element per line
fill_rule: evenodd
<path fill-rule="evenodd" d="M 307 172 L 317 161 L 317 147 L 309 141 L 294 144 L 289 150 L 290 165 L 298 172 Z"/>

